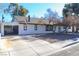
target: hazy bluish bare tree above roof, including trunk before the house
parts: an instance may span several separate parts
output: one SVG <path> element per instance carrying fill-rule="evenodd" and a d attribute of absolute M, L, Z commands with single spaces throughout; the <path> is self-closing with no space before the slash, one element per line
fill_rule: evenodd
<path fill-rule="evenodd" d="M 50 8 L 47 9 L 47 13 L 45 14 L 45 19 L 49 20 L 49 24 L 59 24 L 61 22 L 60 17 L 56 11 L 52 11 Z M 54 27 L 54 32 L 56 31 L 56 25 Z M 60 31 L 60 26 L 59 26 L 59 31 Z"/>

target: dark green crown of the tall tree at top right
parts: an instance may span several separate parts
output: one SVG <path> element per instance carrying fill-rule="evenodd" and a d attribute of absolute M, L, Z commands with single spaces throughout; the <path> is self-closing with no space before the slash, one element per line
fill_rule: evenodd
<path fill-rule="evenodd" d="M 68 15 L 67 13 L 70 12 L 71 14 L 75 14 L 78 16 L 79 14 L 79 3 L 69 3 L 65 4 L 63 8 L 63 15 Z"/>

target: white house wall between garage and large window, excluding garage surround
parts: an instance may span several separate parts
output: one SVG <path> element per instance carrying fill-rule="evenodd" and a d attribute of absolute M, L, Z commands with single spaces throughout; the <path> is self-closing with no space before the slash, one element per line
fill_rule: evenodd
<path fill-rule="evenodd" d="M 19 24 L 19 34 L 41 34 L 41 33 L 53 33 L 53 31 L 46 31 L 45 25 L 37 25 L 37 30 L 34 30 L 34 25 L 27 24 L 27 30 L 24 30 L 24 25 Z"/>

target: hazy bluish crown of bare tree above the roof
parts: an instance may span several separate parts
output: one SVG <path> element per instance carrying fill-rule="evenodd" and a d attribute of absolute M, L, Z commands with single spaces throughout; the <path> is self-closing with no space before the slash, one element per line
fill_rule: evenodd
<path fill-rule="evenodd" d="M 52 11 L 50 8 L 48 8 L 47 13 L 45 13 L 44 18 L 49 20 L 49 23 L 51 21 L 54 23 L 57 23 L 59 16 L 58 16 L 58 13 L 56 11 Z"/>

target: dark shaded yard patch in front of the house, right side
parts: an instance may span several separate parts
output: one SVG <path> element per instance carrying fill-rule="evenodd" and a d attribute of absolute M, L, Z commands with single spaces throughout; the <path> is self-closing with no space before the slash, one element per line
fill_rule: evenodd
<path fill-rule="evenodd" d="M 35 35 L 33 37 L 53 43 L 53 42 L 64 41 L 64 40 L 76 41 L 77 40 L 76 38 L 79 38 L 79 35 L 59 33 L 59 34 Z"/>

